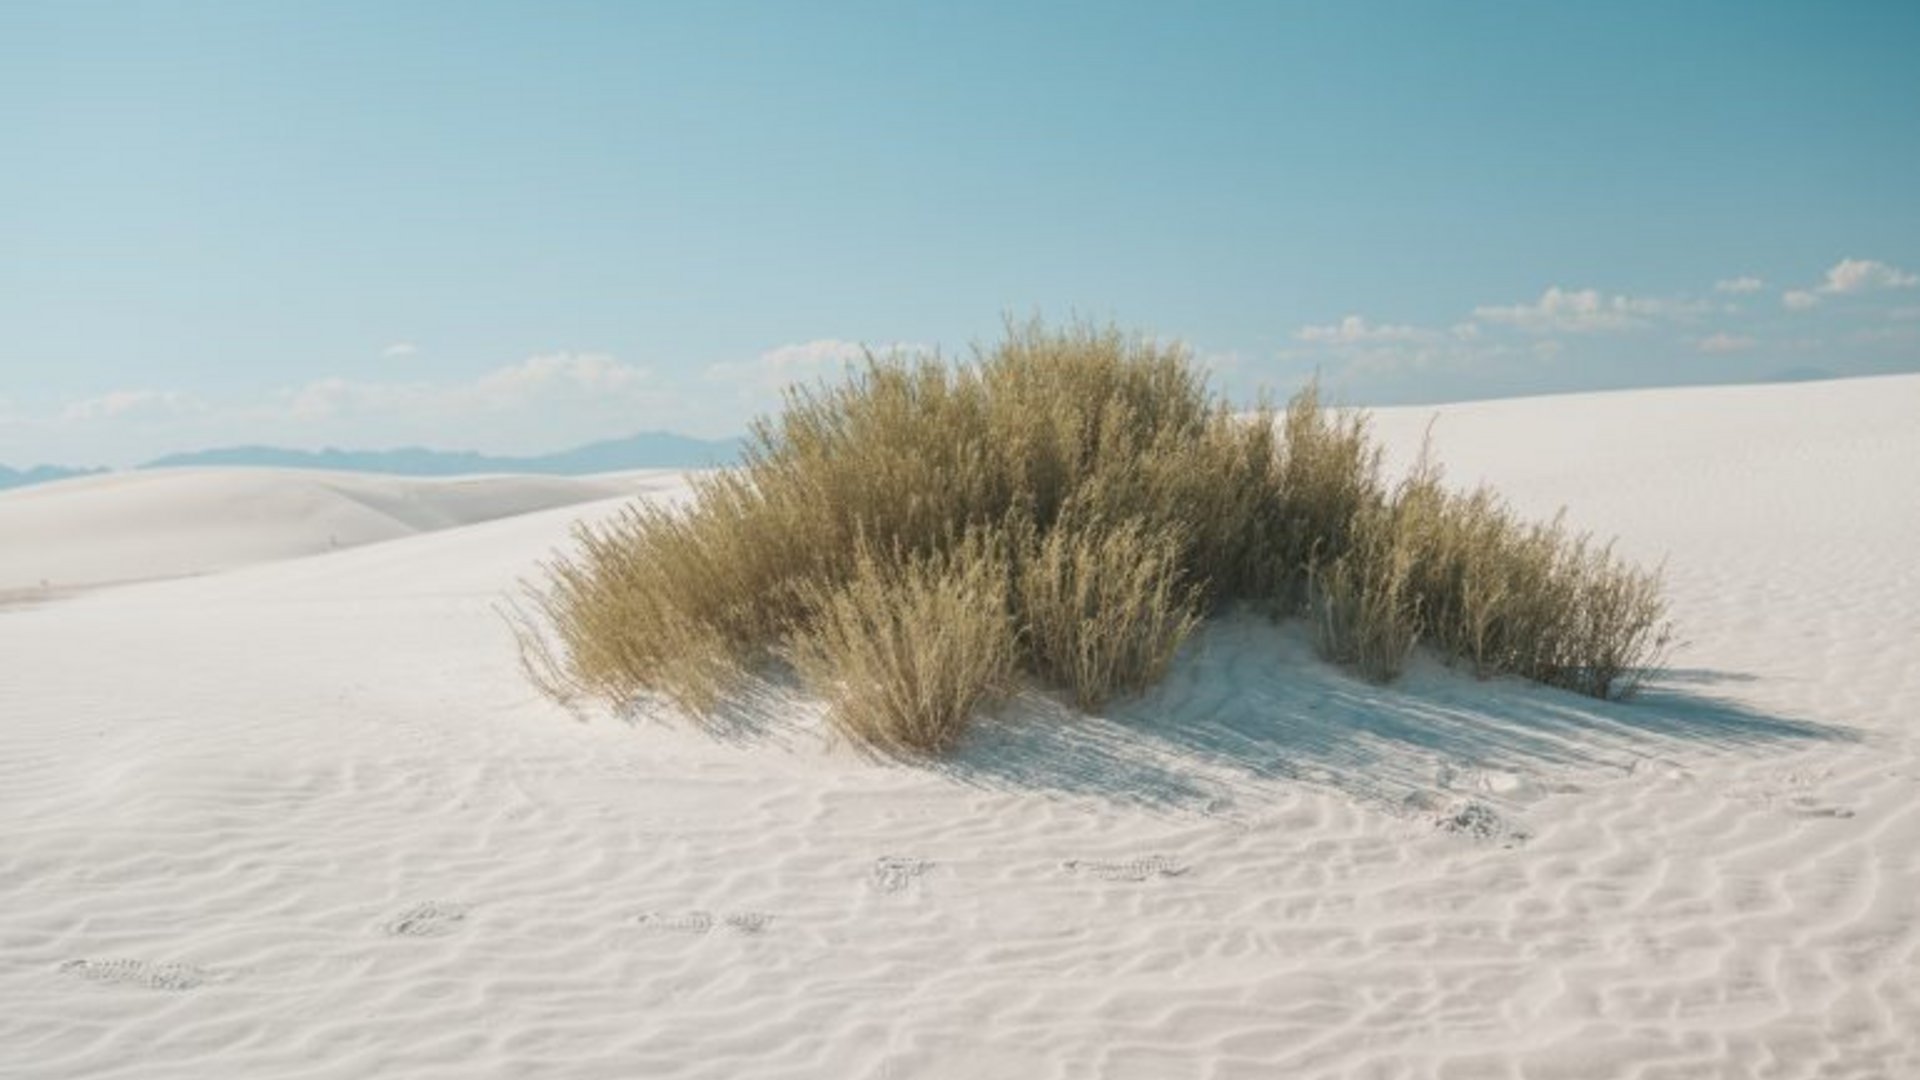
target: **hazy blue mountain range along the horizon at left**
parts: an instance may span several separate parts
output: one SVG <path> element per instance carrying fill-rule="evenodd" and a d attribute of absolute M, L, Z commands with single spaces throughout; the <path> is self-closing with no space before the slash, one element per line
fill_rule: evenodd
<path fill-rule="evenodd" d="M 534 457 L 493 457 L 467 450 L 286 450 L 280 446 L 227 446 L 169 454 L 140 465 L 140 469 L 177 469 L 194 465 L 242 465 L 273 469 L 340 469 L 349 473 L 390 473 L 401 477 L 457 477 L 463 473 L 545 473 L 586 475 L 618 473 L 624 469 L 701 469 L 732 465 L 739 459 L 737 438 L 691 438 L 664 430 L 649 430 L 632 438 L 591 442 L 559 454 Z M 65 469 L 36 465 L 27 471 L 0 465 L 0 488 L 17 488 L 67 477 L 104 473 L 106 469 Z"/>

